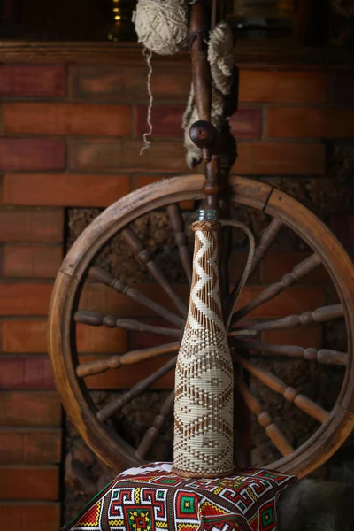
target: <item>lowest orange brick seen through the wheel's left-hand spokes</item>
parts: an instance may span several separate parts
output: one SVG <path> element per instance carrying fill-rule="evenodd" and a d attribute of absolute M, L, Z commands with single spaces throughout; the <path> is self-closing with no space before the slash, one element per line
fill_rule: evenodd
<path fill-rule="evenodd" d="M 85 383 L 89 389 L 131 389 L 136 383 L 146 378 L 147 374 L 154 373 L 159 367 L 165 365 L 171 356 L 148 359 L 134 366 L 122 366 L 117 371 L 107 371 L 106 373 L 95 374 L 85 378 Z M 97 356 L 82 356 L 81 363 L 87 363 L 100 359 Z M 165 374 L 151 389 L 173 389 L 174 371 Z"/>

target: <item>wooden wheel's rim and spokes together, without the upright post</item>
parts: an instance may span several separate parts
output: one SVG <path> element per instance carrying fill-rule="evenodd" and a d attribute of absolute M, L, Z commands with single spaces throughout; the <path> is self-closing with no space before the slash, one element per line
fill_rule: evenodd
<path fill-rule="evenodd" d="M 174 231 L 176 244 L 180 250 L 181 263 L 188 278 L 190 275 L 189 251 L 186 247 L 183 219 L 178 203 L 184 200 L 199 199 L 204 177 L 189 175 L 176 177 L 172 180 L 158 182 L 140 189 L 130 196 L 112 204 L 103 212 L 74 243 L 73 248 L 65 258 L 63 266 L 58 273 L 52 297 L 50 312 L 50 358 L 56 375 L 58 390 L 66 412 L 73 419 L 73 424 L 81 436 L 113 468 L 132 466 L 141 463 L 143 458 L 149 456 L 150 445 L 155 443 L 158 432 L 163 426 L 165 417 L 173 407 L 173 397 L 170 395 L 160 414 L 153 422 L 153 426 L 142 437 L 137 448 L 133 448 L 124 441 L 112 424 L 113 419 L 134 397 L 149 389 L 154 382 L 166 373 L 173 371 L 176 354 L 184 327 L 186 306 L 165 281 L 163 273 L 157 264 L 150 260 L 148 251 L 143 247 L 131 224 L 147 212 L 156 209 L 166 209 L 171 219 L 171 228 Z M 258 241 L 258 247 L 252 270 L 259 266 L 266 251 L 276 240 L 281 227 L 289 227 L 311 248 L 312 254 L 298 264 L 293 271 L 285 275 L 272 286 L 259 292 L 252 300 L 242 307 L 236 308 L 231 320 L 228 335 L 230 345 L 237 349 L 251 349 L 251 353 L 260 351 L 265 355 L 273 353 L 279 357 L 304 357 L 309 364 L 329 364 L 339 366 L 342 370 L 342 389 L 331 411 L 326 411 L 296 389 L 290 388 L 285 381 L 281 381 L 276 374 L 269 373 L 250 358 L 243 357 L 234 350 L 234 360 L 251 373 L 258 381 L 273 389 L 274 394 L 281 394 L 284 400 L 294 404 L 296 408 L 305 412 L 317 422 L 315 433 L 299 448 L 292 448 L 281 430 L 273 424 L 273 420 L 266 413 L 266 404 L 259 404 L 250 388 L 244 383 L 239 383 L 242 396 L 250 411 L 258 418 L 258 422 L 266 429 L 267 435 L 280 452 L 280 459 L 273 463 L 264 463 L 265 466 L 276 468 L 284 473 L 295 473 L 304 476 L 329 458 L 350 434 L 354 426 L 354 368 L 352 360 L 353 333 L 354 333 L 354 269 L 350 258 L 335 236 L 325 227 L 312 212 L 308 211 L 296 200 L 287 196 L 269 185 L 243 178 L 231 180 L 231 203 L 250 206 L 257 211 L 266 212 L 271 219 Z M 113 278 L 104 268 L 95 266 L 95 258 L 106 242 L 117 233 L 125 234 L 127 242 L 132 249 L 145 261 L 151 275 L 157 280 L 158 285 L 171 299 L 174 308 L 171 310 L 160 306 L 152 298 L 145 296 L 133 286 L 127 286 L 118 278 Z M 304 349 L 297 346 L 276 346 L 256 342 L 250 343 L 250 337 L 237 336 L 237 323 L 239 319 L 255 311 L 271 298 L 279 296 L 284 289 L 289 289 L 296 281 L 316 267 L 323 265 L 329 273 L 340 304 L 318 308 L 312 312 L 303 312 L 301 315 L 284 316 L 283 319 L 274 319 L 266 322 L 257 322 L 250 325 L 250 330 L 261 332 L 267 329 L 285 329 L 291 327 L 305 327 L 312 322 L 325 322 L 330 319 L 345 319 L 348 350 L 339 352 L 335 350 Z M 154 327 L 143 320 L 119 319 L 119 316 L 107 316 L 89 312 L 88 308 L 81 310 L 81 292 L 85 283 L 99 282 L 107 289 L 124 294 L 127 301 L 134 301 L 137 305 L 148 308 L 158 317 L 165 319 L 165 325 Z M 109 288 L 108 288 L 109 287 Z M 158 288 L 157 288 L 158 289 Z M 118 295 L 117 295 L 118 296 Z M 187 301 L 185 301 L 187 303 Z M 140 312 L 141 313 L 141 312 Z M 171 342 L 156 348 L 145 350 L 127 351 L 122 355 L 110 358 L 100 358 L 89 363 L 80 363 L 75 346 L 75 323 L 84 323 L 87 327 L 104 325 L 105 327 L 121 327 L 135 334 L 139 331 L 149 331 L 157 335 L 169 335 Z M 161 319 L 159 320 L 161 322 Z M 232 331 L 234 330 L 234 331 Z M 151 372 L 139 381 L 132 389 L 127 390 L 116 400 L 105 404 L 102 409 L 97 408 L 89 396 L 85 381 L 89 375 L 102 373 L 107 370 L 119 372 L 119 367 L 127 366 L 128 371 L 135 372 L 135 363 L 143 359 L 160 358 L 161 365 L 158 370 Z M 120 369 L 121 370 L 121 369 Z"/>

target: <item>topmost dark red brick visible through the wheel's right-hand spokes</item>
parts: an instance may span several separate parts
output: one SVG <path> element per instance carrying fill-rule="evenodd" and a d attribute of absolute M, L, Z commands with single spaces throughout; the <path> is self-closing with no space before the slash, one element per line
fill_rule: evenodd
<path fill-rule="evenodd" d="M 284 274 L 290 273 L 294 267 L 311 255 L 305 250 L 270 250 L 260 265 L 262 282 L 278 282 Z M 301 283 L 329 282 L 330 278 L 323 266 L 316 267 L 307 274 Z"/>

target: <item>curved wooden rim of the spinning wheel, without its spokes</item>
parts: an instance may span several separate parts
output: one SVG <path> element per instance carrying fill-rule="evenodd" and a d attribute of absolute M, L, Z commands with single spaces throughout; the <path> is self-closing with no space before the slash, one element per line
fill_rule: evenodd
<path fill-rule="evenodd" d="M 203 175 L 174 177 L 139 189 L 112 204 L 74 243 L 54 285 L 50 303 L 49 351 L 62 404 L 85 442 L 113 469 L 134 466 L 139 463 L 139 458 L 136 458 L 132 448 L 119 435 L 96 419 L 89 408 L 88 393 L 85 393 L 77 380 L 69 339 L 75 296 L 92 258 L 104 242 L 120 228 L 147 212 L 179 201 L 200 198 L 203 181 Z M 282 473 L 294 473 L 303 477 L 333 455 L 354 427 L 354 268 L 335 236 L 295 199 L 265 183 L 241 177 L 232 178 L 230 188 L 234 203 L 258 208 L 279 219 L 301 236 L 326 266 L 344 308 L 348 363 L 335 406 L 327 421 L 294 453 L 267 465 Z"/>

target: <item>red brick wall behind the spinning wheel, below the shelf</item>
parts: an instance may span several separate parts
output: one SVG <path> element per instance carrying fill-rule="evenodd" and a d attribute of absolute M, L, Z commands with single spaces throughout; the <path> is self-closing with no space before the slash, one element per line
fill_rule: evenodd
<path fill-rule="evenodd" d="M 187 64 L 154 67 L 154 136 L 139 157 L 147 99 L 141 65 L 0 66 L 0 522 L 6 531 L 59 527 L 62 415 L 45 319 L 63 255 L 65 207 L 104 207 L 166 174 L 188 173 L 181 145 L 188 90 Z M 239 138 L 235 173 L 322 176 L 323 139 L 354 138 L 353 95 L 351 73 L 242 69 L 241 108 L 232 119 Z M 347 245 L 353 219 L 333 218 Z M 276 258 L 276 278 L 296 258 Z M 255 282 L 273 275 L 268 258 Z M 322 300 L 318 288 L 303 291 L 305 309 L 309 297 L 316 305 Z"/>

